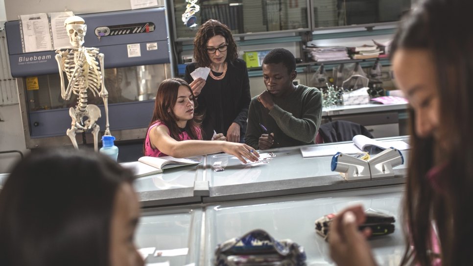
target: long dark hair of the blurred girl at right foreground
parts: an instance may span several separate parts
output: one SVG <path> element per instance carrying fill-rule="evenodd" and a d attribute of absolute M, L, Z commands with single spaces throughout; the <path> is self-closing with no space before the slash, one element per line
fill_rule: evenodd
<path fill-rule="evenodd" d="M 445 145 L 414 132 L 411 110 L 411 150 L 404 198 L 405 256 L 431 265 L 435 258 L 430 230 L 435 221 L 441 243 L 442 265 L 472 265 L 473 210 L 473 28 L 472 1 L 426 0 L 402 21 L 391 54 L 399 49 L 426 49 L 436 68 L 440 99 L 438 133 Z M 441 19 L 439 19 L 441 18 Z M 426 177 L 438 162 L 440 191 Z M 439 155 L 441 154 L 441 155 Z M 409 240 L 414 245 L 410 248 Z"/>

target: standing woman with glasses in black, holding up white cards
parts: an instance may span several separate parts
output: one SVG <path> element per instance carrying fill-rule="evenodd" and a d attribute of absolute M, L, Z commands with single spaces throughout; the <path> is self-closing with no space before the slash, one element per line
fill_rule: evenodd
<path fill-rule="evenodd" d="M 202 24 L 194 38 L 194 63 L 186 68 L 185 79 L 197 97 L 203 114 L 203 137 L 212 140 L 223 133 L 227 141 L 243 143 L 250 105 L 250 83 L 246 63 L 238 59 L 237 45 L 230 29 L 216 20 Z M 211 69 L 207 79 L 192 79 L 197 68 Z"/>

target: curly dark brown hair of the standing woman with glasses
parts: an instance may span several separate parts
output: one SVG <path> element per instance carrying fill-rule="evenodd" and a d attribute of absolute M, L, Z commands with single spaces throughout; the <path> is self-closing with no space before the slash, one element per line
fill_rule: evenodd
<path fill-rule="evenodd" d="M 227 58 L 225 61 L 232 63 L 238 58 L 237 44 L 228 26 L 216 20 L 208 20 L 200 26 L 194 38 L 194 60 L 197 68 L 208 67 L 212 63 L 207 53 L 207 43 L 213 36 L 217 35 L 222 36 L 227 41 Z"/>

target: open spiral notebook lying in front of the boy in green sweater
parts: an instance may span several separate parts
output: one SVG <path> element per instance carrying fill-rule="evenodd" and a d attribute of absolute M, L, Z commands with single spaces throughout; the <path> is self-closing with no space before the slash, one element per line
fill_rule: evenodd
<path fill-rule="evenodd" d="M 308 158 L 332 156 L 337 152 L 355 154 L 361 151 L 367 151 L 370 154 L 374 154 L 390 147 L 394 147 L 399 150 L 409 149 L 409 145 L 403 141 L 381 142 L 375 139 L 370 139 L 363 135 L 356 135 L 353 137 L 353 143 L 302 147 L 301 152 L 304 158 Z"/>

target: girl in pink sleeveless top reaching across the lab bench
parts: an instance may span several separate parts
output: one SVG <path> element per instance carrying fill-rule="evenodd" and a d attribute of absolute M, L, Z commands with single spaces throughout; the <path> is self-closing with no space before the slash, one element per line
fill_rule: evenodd
<path fill-rule="evenodd" d="M 246 163 L 258 161 L 254 148 L 240 143 L 227 142 L 223 134 L 213 141 L 202 141 L 200 116 L 194 117 L 195 100 L 189 84 L 180 78 L 164 80 L 158 88 L 153 118 L 148 126 L 143 154 L 145 156 L 192 157 L 217 152 L 235 155 Z"/>

